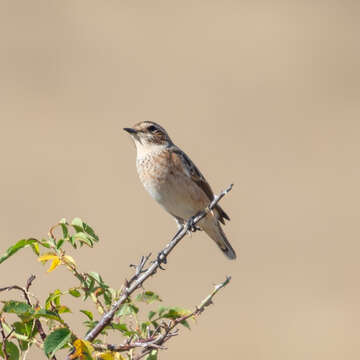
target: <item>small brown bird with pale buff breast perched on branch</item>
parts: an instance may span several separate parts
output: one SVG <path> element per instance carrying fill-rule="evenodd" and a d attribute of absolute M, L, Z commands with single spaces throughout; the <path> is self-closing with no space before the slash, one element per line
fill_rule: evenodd
<path fill-rule="evenodd" d="M 141 121 L 124 130 L 136 146 L 136 168 L 141 183 L 182 228 L 214 199 L 209 183 L 159 124 Z M 236 253 L 221 227 L 225 220 L 230 218 L 217 204 L 197 225 L 227 258 L 235 259 Z"/>

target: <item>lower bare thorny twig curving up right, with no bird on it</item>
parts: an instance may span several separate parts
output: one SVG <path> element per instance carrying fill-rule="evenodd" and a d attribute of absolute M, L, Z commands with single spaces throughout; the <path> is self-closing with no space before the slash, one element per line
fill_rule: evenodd
<path fill-rule="evenodd" d="M 123 351 L 129 351 L 131 349 L 135 348 L 142 348 L 143 351 L 137 355 L 137 357 L 134 358 L 134 360 L 139 360 L 149 354 L 152 350 L 160 350 L 160 349 L 166 349 L 163 344 L 167 342 L 170 338 L 178 335 L 178 330 L 174 330 L 175 327 L 177 327 L 180 323 L 183 321 L 193 318 L 195 316 L 199 316 L 206 307 L 212 304 L 213 297 L 217 294 L 218 291 L 220 291 L 223 287 L 225 287 L 231 280 L 230 276 L 227 276 L 225 281 L 215 286 L 214 290 L 211 294 L 209 294 L 201 303 L 199 306 L 195 308 L 195 310 L 185 316 L 179 317 L 175 320 L 172 320 L 169 324 L 164 323 L 162 326 L 160 326 L 157 331 L 155 331 L 155 334 L 151 337 L 148 337 L 146 339 L 139 339 L 137 341 L 133 342 L 125 342 L 121 345 L 111 345 L 111 344 L 93 344 L 93 347 L 95 350 L 104 352 L 104 351 L 114 351 L 114 352 L 123 352 Z M 161 329 L 164 330 L 163 333 L 158 332 L 161 331 Z"/>

